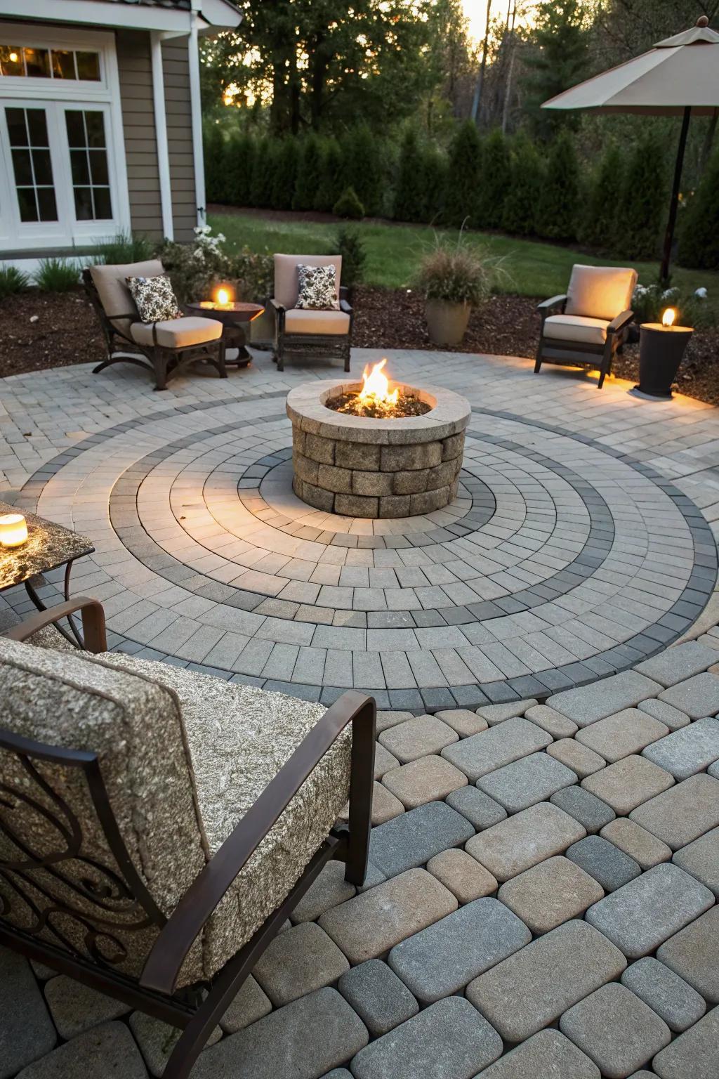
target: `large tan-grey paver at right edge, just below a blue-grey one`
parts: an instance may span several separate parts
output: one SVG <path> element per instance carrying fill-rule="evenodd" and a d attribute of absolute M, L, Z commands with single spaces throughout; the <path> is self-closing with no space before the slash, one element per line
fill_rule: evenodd
<path fill-rule="evenodd" d="M 719 779 L 690 776 L 645 802 L 630 817 L 678 850 L 719 824 Z"/>

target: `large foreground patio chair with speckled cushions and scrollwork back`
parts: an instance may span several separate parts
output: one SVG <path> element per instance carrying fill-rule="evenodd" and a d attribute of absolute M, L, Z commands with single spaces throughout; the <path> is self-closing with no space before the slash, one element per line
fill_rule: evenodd
<path fill-rule="evenodd" d="M 94 655 L 50 624 L 73 611 Z M 0 637 L 0 944 L 182 1029 L 186 1079 L 322 866 L 364 880 L 375 702 L 105 648 L 86 598 Z"/>

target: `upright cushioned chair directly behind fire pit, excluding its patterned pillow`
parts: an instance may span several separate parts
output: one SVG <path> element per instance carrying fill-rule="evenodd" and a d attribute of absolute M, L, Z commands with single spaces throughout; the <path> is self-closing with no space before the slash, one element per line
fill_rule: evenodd
<path fill-rule="evenodd" d="M 340 290 L 338 311 L 306 311 L 298 302 L 298 265 L 333 265 Z M 348 290 L 340 285 L 341 255 L 275 255 L 275 295 L 269 304 L 275 315 L 274 355 L 277 370 L 285 370 L 285 357 L 317 356 L 338 358 L 349 370 L 352 309 Z"/>

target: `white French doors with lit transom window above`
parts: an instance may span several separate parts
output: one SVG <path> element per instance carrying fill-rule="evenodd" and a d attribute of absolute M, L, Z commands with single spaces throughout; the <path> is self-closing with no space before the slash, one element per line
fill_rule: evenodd
<path fill-rule="evenodd" d="M 128 228 L 113 36 L 0 24 L 0 248 Z"/>

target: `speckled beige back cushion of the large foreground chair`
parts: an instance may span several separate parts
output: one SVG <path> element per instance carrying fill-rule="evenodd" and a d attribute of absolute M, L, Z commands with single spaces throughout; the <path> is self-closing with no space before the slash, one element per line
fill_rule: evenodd
<path fill-rule="evenodd" d="M 195 879 L 206 861 L 207 844 L 198 824 L 196 796 L 189 765 L 177 698 L 166 687 L 147 678 L 88 663 L 78 653 L 55 652 L 0 638 L 1 725 L 13 734 L 33 741 L 66 749 L 96 753 L 114 818 L 132 862 L 154 902 L 169 915 L 180 897 Z M 30 877 L 65 902 L 80 904 L 92 920 L 98 907 L 83 900 L 82 882 L 94 880 L 101 887 L 109 878 L 93 868 L 93 862 L 114 869 L 102 829 L 88 797 L 87 784 L 77 768 L 43 763 L 37 765 L 42 777 L 70 807 L 82 827 L 80 858 L 60 861 L 59 868 L 75 887 L 50 878 L 44 870 Z M 33 851 L 49 853 L 67 849 L 60 829 L 51 823 L 59 818 L 67 827 L 59 803 L 43 795 L 28 782 L 17 756 L 0 749 L 0 781 L 5 786 L 0 802 L 0 820 L 14 828 Z M 31 794 L 44 804 L 47 819 L 32 811 L 22 796 L 8 795 L 8 788 Z M 8 808 L 8 802 L 14 803 Z M 18 851 L 0 830 L 0 861 L 17 859 Z M 80 887 L 80 892 L 78 890 Z M 32 888 L 29 888 L 32 894 Z M 3 894 L 10 903 L 10 918 L 15 925 L 31 924 L 28 909 L 18 901 L 0 877 L 0 910 Z M 34 896 L 40 905 L 46 905 Z M 123 905 L 123 904 L 121 904 Z M 125 904 L 127 905 L 127 904 Z M 135 917 L 120 916 L 127 921 Z M 82 925 L 61 919 L 71 944 L 87 954 Z M 113 930 L 126 950 L 120 969 L 138 974 L 157 930 L 143 932 Z M 57 944 L 50 930 L 42 934 Z"/>

